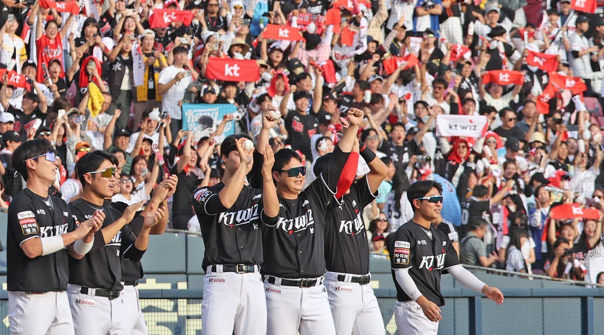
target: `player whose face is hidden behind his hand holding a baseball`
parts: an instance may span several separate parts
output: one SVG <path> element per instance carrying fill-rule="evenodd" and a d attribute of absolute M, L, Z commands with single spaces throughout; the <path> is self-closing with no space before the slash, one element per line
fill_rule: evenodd
<path fill-rule="evenodd" d="M 252 168 L 252 150 L 248 135 L 227 136 L 220 145 L 225 164 L 222 181 L 193 194 L 205 243 L 202 334 L 266 334 L 260 276 L 263 194 L 244 184 Z M 278 211 L 278 203 L 273 210 Z"/>

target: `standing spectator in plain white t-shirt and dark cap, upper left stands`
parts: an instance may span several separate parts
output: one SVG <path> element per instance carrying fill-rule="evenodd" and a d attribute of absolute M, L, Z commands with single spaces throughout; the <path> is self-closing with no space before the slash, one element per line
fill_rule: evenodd
<path fill-rule="evenodd" d="M 213 1 L 217 3 L 216 0 L 208 2 Z M 167 112 L 172 119 L 170 132 L 175 134 L 182 128 L 181 100 L 188 85 L 193 81 L 193 77 L 183 67 L 187 63 L 187 48 L 176 46 L 172 50 L 172 54 L 174 56 L 174 63 L 159 72 L 157 93 L 162 95 L 162 112 Z"/>

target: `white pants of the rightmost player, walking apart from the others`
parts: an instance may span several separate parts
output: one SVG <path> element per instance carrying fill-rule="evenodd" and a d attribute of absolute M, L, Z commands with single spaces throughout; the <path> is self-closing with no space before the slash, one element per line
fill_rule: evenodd
<path fill-rule="evenodd" d="M 439 323 L 429 321 L 415 301 L 396 302 L 394 321 L 400 335 L 437 334 Z"/>

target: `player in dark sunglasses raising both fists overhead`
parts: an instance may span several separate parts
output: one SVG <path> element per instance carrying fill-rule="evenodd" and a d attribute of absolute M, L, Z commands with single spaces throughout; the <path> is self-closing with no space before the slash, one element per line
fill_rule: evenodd
<path fill-rule="evenodd" d="M 362 110 L 347 112 L 350 127 L 335 148 L 327 168 L 310 185 L 304 185 L 306 167 L 291 149 L 274 155 L 272 178 L 280 202 L 278 217 L 263 222 L 267 334 L 335 334 L 333 318 L 323 286 L 325 273 L 324 226 L 327 203 L 335 194 L 363 118 Z M 263 116 L 256 150 L 265 151 L 268 132 L 276 121 Z M 262 152 L 260 152 L 262 150 Z M 256 155 L 254 160 L 259 157 Z M 265 183 L 266 185 L 266 183 Z M 263 190 L 268 196 L 269 190 Z"/>

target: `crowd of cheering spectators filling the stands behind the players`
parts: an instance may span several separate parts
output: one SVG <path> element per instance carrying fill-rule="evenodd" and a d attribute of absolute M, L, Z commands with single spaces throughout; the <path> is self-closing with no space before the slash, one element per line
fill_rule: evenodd
<path fill-rule="evenodd" d="M 359 139 L 388 166 L 379 197 L 364 211 L 374 254 L 387 257 L 388 234 L 413 216 L 410 183 L 443 179 L 452 188 L 445 202 L 461 219 L 443 209 L 434 225 L 455 241 L 463 263 L 602 284 L 603 7 L 576 11 L 569 0 L 2 0 L 0 208 L 24 188 L 11 153 L 42 138 L 59 153 L 52 193 L 66 202 L 82 191 L 77 160 L 108 150 L 120 162 L 114 200 L 148 200 L 165 173 L 176 174 L 170 227 L 195 231 L 191 195 L 220 182 L 227 126 L 257 136 L 262 113 L 279 109 L 285 116 L 270 144 L 275 152 L 298 150 L 308 184 L 310 167 L 338 141 L 339 116 L 356 107 L 367 114 Z M 190 13 L 191 24 L 174 15 L 167 27 L 152 24 L 159 9 L 168 10 L 164 17 Z M 269 24 L 297 28 L 303 38 L 265 38 Z M 535 54 L 553 56 L 554 69 L 535 63 Z M 260 79 L 209 80 L 211 57 L 255 60 Z M 502 85 L 486 80 L 492 71 L 521 78 Z M 549 85 L 560 82 L 567 86 Z M 182 103 L 238 109 L 201 137 L 182 129 Z M 486 116 L 486 127 L 477 137 L 440 136 L 444 115 Z M 368 170 L 361 159 L 358 176 Z M 582 215 L 594 209 L 596 217 Z"/>

